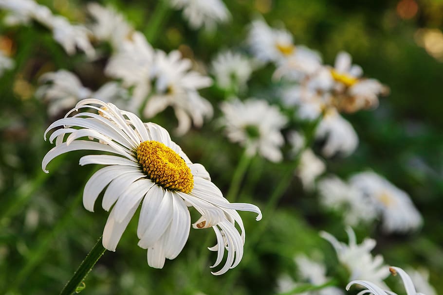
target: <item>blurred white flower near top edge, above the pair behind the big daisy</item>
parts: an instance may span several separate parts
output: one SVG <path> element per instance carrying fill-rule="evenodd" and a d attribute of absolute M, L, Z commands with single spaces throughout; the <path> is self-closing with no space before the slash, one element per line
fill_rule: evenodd
<path fill-rule="evenodd" d="M 97 40 L 108 41 L 114 50 L 118 50 L 124 40 L 131 38 L 134 29 L 115 9 L 89 3 L 88 11 L 95 20 L 91 31 Z"/>

